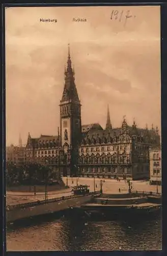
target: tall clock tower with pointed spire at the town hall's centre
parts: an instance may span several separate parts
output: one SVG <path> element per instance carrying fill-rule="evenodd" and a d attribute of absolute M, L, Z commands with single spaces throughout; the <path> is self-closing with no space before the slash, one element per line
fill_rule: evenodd
<path fill-rule="evenodd" d="M 60 132 L 61 145 L 64 148 L 70 175 L 77 173 L 78 145 L 81 139 L 80 100 L 75 86 L 75 73 L 71 67 L 70 49 L 68 46 L 68 60 L 65 68 L 65 85 L 60 101 Z M 70 157 L 69 157 L 70 153 Z"/>

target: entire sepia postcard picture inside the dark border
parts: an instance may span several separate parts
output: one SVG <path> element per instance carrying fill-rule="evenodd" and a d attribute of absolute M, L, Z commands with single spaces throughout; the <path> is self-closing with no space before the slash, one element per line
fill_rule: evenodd
<path fill-rule="evenodd" d="M 162 250 L 160 6 L 5 8 L 7 251 Z"/>

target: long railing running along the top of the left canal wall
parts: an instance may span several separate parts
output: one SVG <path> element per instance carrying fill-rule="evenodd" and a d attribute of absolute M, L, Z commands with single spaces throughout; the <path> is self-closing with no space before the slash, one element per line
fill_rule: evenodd
<path fill-rule="evenodd" d="M 100 191 L 95 191 L 95 192 L 90 192 L 89 194 L 86 194 L 86 196 L 89 195 L 99 195 Z M 29 203 L 23 203 L 23 204 L 15 204 L 15 205 L 7 205 L 6 206 L 6 210 L 13 210 L 16 208 L 28 208 L 28 207 L 33 207 L 36 205 L 40 205 L 40 204 L 45 204 L 45 203 L 51 203 L 51 202 L 57 202 L 57 201 L 64 201 L 64 200 L 68 200 L 68 199 L 72 199 L 72 198 L 78 198 L 78 197 L 84 197 L 85 195 L 71 195 L 71 196 L 66 196 L 66 197 L 57 197 L 57 198 L 51 198 L 51 199 L 47 199 L 47 200 L 38 200 L 35 202 L 29 202 Z"/>

